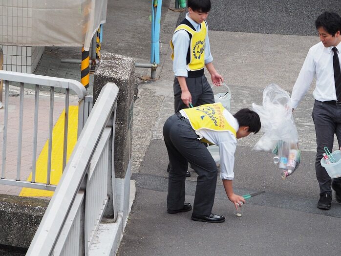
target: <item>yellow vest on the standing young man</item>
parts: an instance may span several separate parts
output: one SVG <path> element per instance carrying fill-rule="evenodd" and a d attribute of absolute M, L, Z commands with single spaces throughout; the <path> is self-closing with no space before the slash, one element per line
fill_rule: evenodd
<path fill-rule="evenodd" d="M 189 71 L 200 70 L 205 66 L 205 38 L 207 34 L 206 21 L 201 23 L 201 28 L 198 32 L 186 24 L 180 24 L 176 27 L 174 33 L 182 29 L 192 35 L 189 48 L 191 58 L 190 63 L 187 65 L 187 69 Z M 170 47 L 172 49 L 171 59 L 174 60 L 174 45 L 171 40 Z"/>

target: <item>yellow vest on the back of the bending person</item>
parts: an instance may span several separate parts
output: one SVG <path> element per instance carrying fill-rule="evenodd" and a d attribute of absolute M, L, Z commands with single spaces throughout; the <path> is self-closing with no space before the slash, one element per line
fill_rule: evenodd
<path fill-rule="evenodd" d="M 236 130 L 224 117 L 224 109 L 223 105 L 218 102 L 201 105 L 199 107 L 185 108 L 183 111 L 185 111 L 194 130 L 210 129 L 214 131 L 231 131 L 237 137 Z M 204 142 L 208 141 L 206 140 Z"/>

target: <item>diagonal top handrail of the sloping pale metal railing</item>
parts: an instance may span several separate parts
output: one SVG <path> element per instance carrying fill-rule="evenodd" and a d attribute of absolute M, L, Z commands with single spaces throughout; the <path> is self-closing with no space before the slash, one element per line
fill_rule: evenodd
<path fill-rule="evenodd" d="M 89 171 L 90 160 L 108 121 L 112 120 L 110 117 L 115 108 L 118 91 L 118 87 L 112 83 L 103 87 L 26 256 L 46 256 L 52 253 L 78 192 L 84 187 L 86 192 L 85 177 Z"/>

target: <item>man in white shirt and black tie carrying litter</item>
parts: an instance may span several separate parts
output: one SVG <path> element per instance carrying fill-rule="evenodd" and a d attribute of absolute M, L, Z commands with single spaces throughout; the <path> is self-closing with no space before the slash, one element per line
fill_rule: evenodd
<path fill-rule="evenodd" d="M 336 192 L 336 200 L 341 203 L 341 178 L 332 180 L 320 160 L 324 147 L 333 148 L 334 134 L 341 147 L 341 17 L 334 12 L 324 12 L 316 19 L 315 26 L 321 42 L 309 49 L 294 85 L 291 101 L 294 110 L 316 77 L 312 117 L 317 142 L 315 169 L 320 185 L 317 207 L 329 210 L 331 188 Z"/>

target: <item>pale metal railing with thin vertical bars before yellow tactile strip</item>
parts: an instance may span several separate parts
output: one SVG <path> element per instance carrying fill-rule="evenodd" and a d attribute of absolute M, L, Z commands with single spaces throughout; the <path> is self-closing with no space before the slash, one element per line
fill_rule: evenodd
<path fill-rule="evenodd" d="M 4 124 L 3 124 L 3 142 L 2 142 L 2 167 L 0 184 L 13 185 L 18 187 L 26 187 L 33 189 L 43 189 L 54 191 L 56 185 L 51 184 L 51 152 L 52 152 L 52 128 L 53 128 L 53 108 L 54 108 L 54 91 L 55 88 L 65 89 L 65 114 L 64 114 L 64 149 L 63 149 L 63 170 L 66 165 L 67 153 L 67 127 L 68 127 L 68 109 L 70 90 L 74 91 L 79 99 L 78 111 L 78 134 L 82 131 L 84 126 L 85 111 L 89 109 L 90 104 L 87 103 L 89 99 L 84 86 L 76 80 L 47 77 L 40 75 L 31 75 L 11 71 L 0 70 L 0 79 L 5 84 L 5 101 L 4 101 Z M 6 177 L 6 149 L 8 137 L 8 118 L 9 118 L 9 86 L 11 82 L 20 83 L 20 106 L 19 106 L 19 132 L 18 132 L 18 153 L 17 153 L 17 174 L 16 179 Z M 22 150 L 22 127 L 23 127 L 23 102 L 24 102 L 24 86 L 27 84 L 35 85 L 35 107 L 34 107 L 34 128 L 33 128 L 33 144 L 32 144 L 32 178 L 31 181 L 21 180 L 21 150 Z M 38 139 L 38 116 L 39 116 L 39 95 L 40 86 L 50 87 L 50 107 L 49 107 L 49 130 L 48 130 L 48 159 L 46 170 L 46 182 L 36 182 L 36 160 L 37 160 L 37 139 Z"/>

